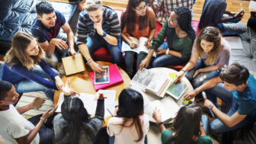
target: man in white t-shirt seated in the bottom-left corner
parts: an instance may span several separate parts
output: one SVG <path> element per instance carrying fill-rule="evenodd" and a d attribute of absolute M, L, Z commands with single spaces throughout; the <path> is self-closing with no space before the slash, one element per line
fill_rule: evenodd
<path fill-rule="evenodd" d="M 0 135 L 5 139 L 5 142 L 8 144 L 52 143 L 52 136 L 50 138 L 49 135 L 46 136 L 46 129 L 48 129 L 46 127 L 49 127 L 50 124 L 48 123 L 51 123 L 51 120 L 47 121 L 47 119 L 53 116 L 57 107 L 54 110 L 49 109 L 44 114 L 30 118 L 31 123 L 21 114 L 33 109 L 35 101 L 40 97 L 35 98 L 31 104 L 16 109 L 13 104 L 18 101 L 18 96 L 19 94 L 10 82 L 0 81 Z M 43 103 L 45 103 L 45 100 Z M 51 119 L 53 120 L 53 118 Z M 42 136 L 40 136 L 41 133 Z"/>

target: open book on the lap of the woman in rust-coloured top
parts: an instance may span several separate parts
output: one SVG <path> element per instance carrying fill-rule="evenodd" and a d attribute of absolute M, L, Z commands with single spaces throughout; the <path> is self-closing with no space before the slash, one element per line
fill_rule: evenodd
<path fill-rule="evenodd" d="M 122 52 L 133 51 L 135 53 L 145 52 L 149 53 L 149 49 L 145 46 L 145 42 L 148 40 L 146 37 L 139 37 L 139 40 L 134 37 L 129 37 L 131 41 L 134 41 L 139 46 L 135 49 L 132 49 L 129 44 L 123 41 L 122 43 Z M 153 54 L 155 56 L 155 53 Z M 156 56 L 155 56 L 156 57 Z"/>

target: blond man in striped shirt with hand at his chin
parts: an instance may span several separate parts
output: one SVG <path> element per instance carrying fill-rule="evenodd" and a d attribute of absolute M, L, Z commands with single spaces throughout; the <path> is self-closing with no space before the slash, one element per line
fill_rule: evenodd
<path fill-rule="evenodd" d="M 101 0 L 87 0 L 80 12 L 77 24 L 77 46 L 85 62 L 96 72 L 103 72 L 101 66 L 91 59 L 91 54 L 102 46 L 111 53 L 111 62 L 120 66 L 123 56 L 120 49 L 120 23 L 117 12 L 102 6 Z"/>

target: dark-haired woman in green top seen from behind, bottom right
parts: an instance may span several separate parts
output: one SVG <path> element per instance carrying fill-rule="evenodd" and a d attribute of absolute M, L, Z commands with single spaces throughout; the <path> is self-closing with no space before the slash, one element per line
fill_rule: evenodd
<path fill-rule="evenodd" d="M 153 118 L 159 123 L 162 132 L 161 140 L 163 144 L 212 144 L 208 133 L 209 120 L 206 115 L 202 115 L 202 109 L 197 106 L 197 102 L 190 101 L 187 106 L 181 107 L 174 118 L 174 126 L 170 130 L 165 130 L 162 124 L 160 110 L 153 112 Z M 201 123 L 201 120 L 203 123 Z"/>

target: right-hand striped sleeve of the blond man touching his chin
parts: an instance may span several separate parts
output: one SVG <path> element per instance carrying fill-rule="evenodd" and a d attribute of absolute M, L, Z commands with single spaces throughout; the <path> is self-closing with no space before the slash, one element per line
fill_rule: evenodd
<path fill-rule="evenodd" d="M 121 40 L 121 29 L 118 16 L 116 12 L 112 12 L 113 17 L 110 21 L 110 35 L 117 38 L 117 43 Z"/>

